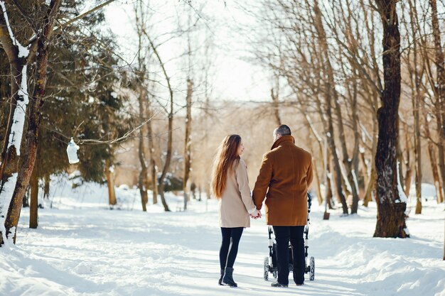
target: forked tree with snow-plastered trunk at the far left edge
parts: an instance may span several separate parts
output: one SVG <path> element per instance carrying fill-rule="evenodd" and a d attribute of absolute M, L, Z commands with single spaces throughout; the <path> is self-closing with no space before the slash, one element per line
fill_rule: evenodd
<path fill-rule="evenodd" d="M 14 96 L 11 105 L 9 124 L 6 137 L 9 136 L 8 144 L 4 145 L 1 163 L 1 189 L 8 184 L 6 192 L 6 201 L 9 202 L 8 213 L 4 220 L 4 229 L 2 227 L 2 236 L 0 236 L 0 246 L 4 243 L 4 239 L 12 236 L 14 243 L 16 241 L 16 226 L 20 216 L 23 195 L 26 187 L 28 187 L 31 173 L 33 171 L 34 162 L 36 161 L 38 130 L 41 123 L 41 108 L 45 95 L 45 84 L 47 80 L 47 62 L 50 53 L 50 41 L 53 35 L 53 28 L 58 19 L 59 6 L 61 0 L 51 0 L 49 5 L 37 4 L 36 7 L 28 7 L 23 11 L 23 17 L 31 23 L 32 29 L 37 28 L 34 32 L 32 43 L 29 46 L 23 46 L 14 36 L 12 25 L 9 23 L 8 11 L 4 1 L 0 1 L 3 13 L 0 13 L 0 42 L 3 45 L 6 55 L 8 55 L 11 66 L 11 94 Z M 21 7 L 16 4 L 17 8 L 22 11 Z M 38 11 L 37 15 L 33 15 Z M 22 39 L 23 40 L 23 39 Z M 22 41 L 23 42 L 23 41 Z M 33 80 L 35 87 L 31 96 L 28 94 L 28 65 L 35 62 L 35 72 Z M 31 97 L 31 98 L 30 98 Z M 28 118 L 25 120 L 26 106 L 29 104 Z M 18 106 L 17 106 L 18 105 Z M 25 141 L 25 153 L 21 157 L 21 165 L 18 172 L 11 174 L 8 180 L 4 179 L 5 168 L 14 162 L 14 156 L 20 155 L 21 135 L 23 127 L 27 121 L 27 133 Z M 5 142 L 6 143 L 6 142 Z M 13 170 L 14 171 L 14 170 Z M 9 174 L 7 174 L 9 175 Z M 14 186 L 14 191 L 12 187 Z M 12 232 L 12 233 L 11 233 Z"/>

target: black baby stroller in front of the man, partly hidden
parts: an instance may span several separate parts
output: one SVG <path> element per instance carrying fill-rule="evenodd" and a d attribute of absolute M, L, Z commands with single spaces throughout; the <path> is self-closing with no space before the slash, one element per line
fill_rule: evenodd
<path fill-rule="evenodd" d="M 309 239 L 309 213 L 311 213 L 312 197 L 308 193 L 308 224 L 304 226 L 304 261 L 306 269 L 304 273 L 309 273 L 309 280 L 314 280 L 315 278 L 315 259 L 311 257 L 308 263 L 308 239 Z M 278 268 L 277 268 L 277 243 L 275 239 L 272 239 L 272 234 L 274 234 L 274 229 L 272 226 L 269 228 L 269 256 L 264 257 L 264 280 L 269 280 L 269 273 L 272 273 L 274 278 L 277 278 Z M 289 271 L 294 270 L 294 265 L 292 264 L 292 248 L 289 242 Z"/>

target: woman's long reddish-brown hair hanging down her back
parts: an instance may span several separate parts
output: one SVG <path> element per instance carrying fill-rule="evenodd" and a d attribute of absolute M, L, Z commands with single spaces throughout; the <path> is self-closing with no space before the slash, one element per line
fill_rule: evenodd
<path fill-rule="evenodd" d="M 227 172 L 232 168 L 233 163 L 235 163 L 235 168 L 240 163 L 240 155 L 237 153 L 240 143 L 241 137 L 238 135 L 225 137 L 213 161 L 212 190 L 218 199 L 223 196 Z"/>

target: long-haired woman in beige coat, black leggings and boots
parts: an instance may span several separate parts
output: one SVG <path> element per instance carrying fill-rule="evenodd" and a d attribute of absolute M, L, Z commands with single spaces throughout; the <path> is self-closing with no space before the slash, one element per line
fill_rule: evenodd
<path fill-rule="evenodd" d="M 233 264 L 238 253 L 242 231 L 250 227 L 250 216 L 261 217 L 250 195 L 247 166 L 240 158 L 244 146 L 241 137 L 229 135 L 221 143 L 213 165 L 212 189 L 220 199 L 219 216 L 223 241 L 220 248 L 221 276 L 218 283 L 237 287 Z"/>

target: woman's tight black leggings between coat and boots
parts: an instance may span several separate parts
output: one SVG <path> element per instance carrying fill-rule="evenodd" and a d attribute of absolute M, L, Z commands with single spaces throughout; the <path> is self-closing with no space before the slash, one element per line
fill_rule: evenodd
<path fill-rule="evenodd" d="M 238 245 L 244 227 L 226 228 L 221 227 L 221 235 L 223 241 L 220 248 L 220 266 L 221 269 L 226 267 L 233 268 L 235 259 L 237 258 Z"/>

